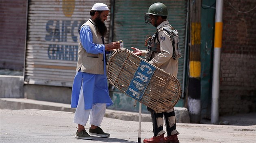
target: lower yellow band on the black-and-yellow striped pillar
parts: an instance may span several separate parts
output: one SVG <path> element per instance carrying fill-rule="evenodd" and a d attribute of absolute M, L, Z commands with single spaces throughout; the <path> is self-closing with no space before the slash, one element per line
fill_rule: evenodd
<path fill-rule="evenodd" d="M 189 77 L 199 78 L 201 74 L 201 62 L 190 61 L 189 62 Z"/>

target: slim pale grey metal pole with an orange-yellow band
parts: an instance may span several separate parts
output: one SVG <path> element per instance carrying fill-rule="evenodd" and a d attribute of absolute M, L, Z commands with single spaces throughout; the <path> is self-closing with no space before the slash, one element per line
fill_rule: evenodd
<path fill-rule="evenodd" d="M 212 109 L 211 109 L 211 120 L 210 120 L 212 123 L 216 123 L 219 120 L 219 67 L 220 67 L 222 29 L 223 29 L 222 11 L 223 11 L 223 0 L 216 0 Z"/>

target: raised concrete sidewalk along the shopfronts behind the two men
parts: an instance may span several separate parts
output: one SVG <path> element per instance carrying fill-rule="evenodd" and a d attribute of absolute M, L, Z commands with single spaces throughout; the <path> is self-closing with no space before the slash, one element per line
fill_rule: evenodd
<path fill-rule="evenodd" d="M 75 108 L 71 108 L 70 104 L 38 101 L 24 98 L 0 98 L 0 109 L 41 109 L 67 111 L 72 113 L 75 112 Z M 175 116 L 177 123 L 190 123 L 187 108 L 175 107 Z M 105 117 L 126 121 L 139 121 L 139 113 L 130 111 L 106 109 Z M 151 115 L 141 114 L 141 122 L 151 122 Z M 210 120 L 201 120 L 201 123 L 211 124 Z M 256 125 L 256 113 L 219 117 L 218 124 L 238 126 Z"/>

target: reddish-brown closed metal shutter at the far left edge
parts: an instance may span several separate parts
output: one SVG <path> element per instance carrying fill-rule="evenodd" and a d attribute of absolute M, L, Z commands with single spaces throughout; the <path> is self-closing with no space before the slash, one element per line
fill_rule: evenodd
<path fill-rule="evenodd" d="M 23 71 L 28 0 L 0 2 L 0 68 Z"/>

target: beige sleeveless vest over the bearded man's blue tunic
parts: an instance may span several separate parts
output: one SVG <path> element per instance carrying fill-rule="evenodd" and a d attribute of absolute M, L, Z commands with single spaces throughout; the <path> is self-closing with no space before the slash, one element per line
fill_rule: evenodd
<path fill-rule="evenodd" d="M 88 25 L 91 29 L 91 32 L 93 35 L 92 42 L 95 44 L 102 44 L 102 38 L 101 38 L 102 36 L 100 36 L 100 34 L 97 34 L 94 21 L 89 19 L 82 26 L 84 25 Z M 95 54 L 87 53 L 82 46 L 79 33 L 78 33 L 78 44 L 79 44 L 78 45 L 78 61 L 77 61 L 76 71 L 79 71 L 79 69 L 81 69 L 82 72 L 86 72 L 90 74 L 104 74 L 103 54 L 95 55 Z"/>

